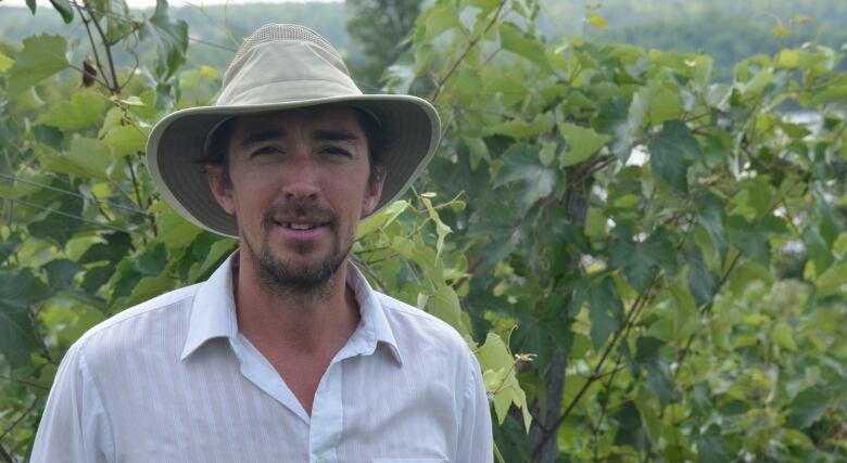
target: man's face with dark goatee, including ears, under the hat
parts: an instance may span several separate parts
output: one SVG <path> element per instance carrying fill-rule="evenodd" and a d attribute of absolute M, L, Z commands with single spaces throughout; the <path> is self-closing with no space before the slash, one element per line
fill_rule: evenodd
<path fill-rule="evenodd" d="M 229 182 L 223 167 L 207 167 L 263 280 L 301 292 L 344 261 L 384 177 L 368 181 L 367 139 L 347 106 L 240 117 L 229 140 Z"/>

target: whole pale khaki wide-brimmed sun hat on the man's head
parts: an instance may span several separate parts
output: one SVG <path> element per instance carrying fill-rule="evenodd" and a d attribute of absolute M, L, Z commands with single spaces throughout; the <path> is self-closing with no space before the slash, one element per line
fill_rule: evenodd
<path fill-rule="evenodd" d="M 321 104 L 365 110 L 379 124 L 387 175 L 375 211 L 406 191 L 438 146 L 438 113 L 426 100 L 363 94 L 336 49 L 317 33 L 268 24 L 236 53 L 214 106 L 177 111 L 153 127 L 148 168 L 162 196 L 182 217 L 208 231 L 238 236 L 236 217 L 218 205 L 206 180 L 202 159 L 210 133 L 233 116 Z"/>

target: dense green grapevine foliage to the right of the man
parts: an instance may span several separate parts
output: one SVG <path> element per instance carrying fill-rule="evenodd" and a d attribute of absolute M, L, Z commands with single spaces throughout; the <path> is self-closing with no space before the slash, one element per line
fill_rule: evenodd
<path fill-rule="evenodd" d="M 614 24 L 597 8 L 546 42 L 544 11 L 437 1 L 388 75 L 448 124 L 421 188 L 465 192 L 445 247 L 471 325 L 517 324 L 509 348 L 538 355 L 504 459 L 843 459 L 847 347 L 799 334 L 847 311 L 842 55 L 778 50 L 728 81 L 707 55 L 586 40 Z"/>

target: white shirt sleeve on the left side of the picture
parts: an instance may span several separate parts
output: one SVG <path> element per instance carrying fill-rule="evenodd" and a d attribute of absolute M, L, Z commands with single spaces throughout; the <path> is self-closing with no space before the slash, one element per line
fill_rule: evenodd
<path fill-rule="evenodd" d="M 114 461 L 109 417 L 79 345 L 62 360 L 33 446 L 33 463 Z"/>

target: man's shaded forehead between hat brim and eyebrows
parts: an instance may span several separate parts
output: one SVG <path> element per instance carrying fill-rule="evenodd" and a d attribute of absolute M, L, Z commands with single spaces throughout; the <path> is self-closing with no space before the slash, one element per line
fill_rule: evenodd
<path fill-rule="evenodd" d="M 267 129 L 281 129 L 283 132 L 302 129 L 343 129 L 354 134 L 363 134 L 356 110 L 346 105 L 323 105 L 252 114 L 238 116 L 233 123 L 233 139 Z"/>

